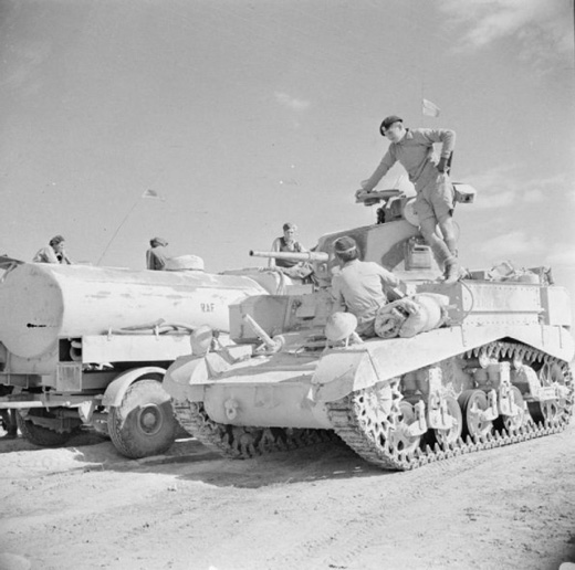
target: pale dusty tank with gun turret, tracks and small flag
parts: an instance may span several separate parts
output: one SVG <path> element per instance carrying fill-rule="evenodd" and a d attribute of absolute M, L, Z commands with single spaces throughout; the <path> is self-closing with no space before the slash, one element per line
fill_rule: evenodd
<path fill-rule="evenodd" d="M 469 187 L 456 190 L 459 202 L 473 201 Z M 384 190 L 357 201 L 383 204 L 380 223 L 323 235 L 309 254 L 284 254 L 314 266 L 306 292 L 233 304 L 233 342 L 205 342 L 168 368 L 164 388 L 179 423 L 229 457 L 337 435 L 394 471 L 565 429 L 574 340 L 567 293 L 551 272 L 505 263 L 443 283 L 412 200 Z M 334 313 L 334 242 L 343 235 L 404 283 L 389 292 L 370 338 L 357 335 L 354 315 Z"/>

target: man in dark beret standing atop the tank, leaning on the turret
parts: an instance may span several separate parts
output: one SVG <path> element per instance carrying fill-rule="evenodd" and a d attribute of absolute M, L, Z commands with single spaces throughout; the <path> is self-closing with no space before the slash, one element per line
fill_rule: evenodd
<path fill-rule="evenodd" d="M 439 266 L 445 270 L 446 283 L 454 283 L 459 278 L 459 265 L 452 218 L 454 190 L 449 180 L 449 162 L 456 133 L 448 129 L 409 129 L 396 115 L 384 119 L 379 133 L 391 144 L 375 172 L 362 182 L 362 189 L 370 192 L 397 161 L 404 166 L 416 187 L 415 208 L 421 233 Z M 433 155 L 435 142 L 442 144 L 439 161 Z"/>

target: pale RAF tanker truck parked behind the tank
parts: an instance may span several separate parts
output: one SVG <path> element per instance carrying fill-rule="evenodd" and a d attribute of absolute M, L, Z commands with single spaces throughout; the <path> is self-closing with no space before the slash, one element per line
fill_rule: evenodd
<path fill-rule="evenodd" d="M 24 437 L 62 445 L 90 425 L 127 457 L 171 445 L 166 368 L 190 352 L 192 330 L 223 338 L 229 304 L 280 284 L 271 272 L 205 273 L 198 260 L 153 272 L 0 258 L 0 384 L 11 388 L 0 408 L 18 410 Z"/>

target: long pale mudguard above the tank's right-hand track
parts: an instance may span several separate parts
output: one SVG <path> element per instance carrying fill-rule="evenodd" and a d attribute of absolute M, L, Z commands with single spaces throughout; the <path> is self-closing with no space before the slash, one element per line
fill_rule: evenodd
<path fill-rule="evenodd" d="M 561 360 L 571 361 L 575 345 L 563 327 L 450 327 L 412 338 L 370 339 L 363 345 L 334 348 L 320 360 L 312 378 L 311 398 L 333 402 L 353 391 L 400 377 L 500 339 L 512 339 Z"/>

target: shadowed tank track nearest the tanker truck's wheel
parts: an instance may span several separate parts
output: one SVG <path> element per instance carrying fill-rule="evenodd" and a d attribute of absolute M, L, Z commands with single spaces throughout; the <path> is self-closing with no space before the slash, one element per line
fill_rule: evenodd
<path fill-rule="evenodd" d="M 331 430 L 244 428 L 210 420 L 202 402 L 174 401 L 181 426 L 209 450 L 236 460 L 295 450 L 335 439 Z"/>

